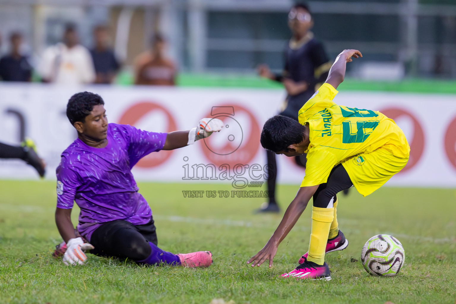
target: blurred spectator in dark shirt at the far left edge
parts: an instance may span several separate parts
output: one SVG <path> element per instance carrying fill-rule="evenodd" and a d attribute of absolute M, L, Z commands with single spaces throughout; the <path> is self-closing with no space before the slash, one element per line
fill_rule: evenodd
<path fill-rule="evenodd" d="M 0 78 L 3 81 L 31 81 L 32 67 L 27 57 L 21 55 L 22 34 L 10 36 L 11 52 L 0 59 Z"/>

